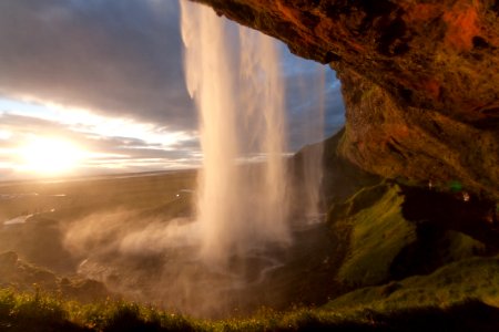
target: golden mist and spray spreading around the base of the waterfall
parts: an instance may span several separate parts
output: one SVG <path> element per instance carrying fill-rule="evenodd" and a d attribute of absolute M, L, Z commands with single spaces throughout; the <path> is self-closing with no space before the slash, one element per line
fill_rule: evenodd
<path fill-rule="evenodd" d="M 78 268 L 80 274 L 103 282 L 128 300 L 197 318 L 228 318 L 264 307 L 285 310 L 320 304 L 334 292 L 329 260 L 335 245 L 325 222 L 309 225 L 304 217 L 295 219 L 289 227 L 292 245 L 283 248 L 268 242 L 244 255 L 228 252 L 221 267 L 200 256 L 195 219 L 152 219 L 146 227 L 116 237 L 113 224 L 121 229 L 131 227 L 123 219 L 122 214 L 94 215 L 92 220 L 105 222 L 105 235 L 99 236 L 99 221 L 88 219 L 74 224 L 65 240 L 73 252 L 85 255 Z M 89 250 L 90 239 L 79 238 L 85 228 L 106 246 Z"/>

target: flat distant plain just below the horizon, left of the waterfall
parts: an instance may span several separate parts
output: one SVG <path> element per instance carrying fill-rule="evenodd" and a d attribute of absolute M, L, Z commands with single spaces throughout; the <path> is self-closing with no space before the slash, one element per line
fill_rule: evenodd
<path fill-rule="evenodd" d="M 51 210 L 50 218 L 62 221 L 99 210 L 155 208 L 182 189 L 194 189 L 195 183 L 196 170 L 0 183 L 0 221 Z"/>

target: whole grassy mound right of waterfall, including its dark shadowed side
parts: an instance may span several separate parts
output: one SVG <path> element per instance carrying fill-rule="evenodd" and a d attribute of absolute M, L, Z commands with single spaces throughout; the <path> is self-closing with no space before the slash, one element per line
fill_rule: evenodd
<path fill-rule="evenodd" d="M 449 263 L 498 253 L 490 203 L 380 183 L 328 212 L 346 252 L 334 276 L 348 290 L 429 274 Z"/>

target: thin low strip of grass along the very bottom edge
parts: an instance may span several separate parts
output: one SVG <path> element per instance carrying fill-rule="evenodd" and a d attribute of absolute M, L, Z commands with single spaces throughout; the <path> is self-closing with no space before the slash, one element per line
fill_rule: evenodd
<path fill-rule="evenodd" d="M 468 298 L 447 305 L 374 309 L 336 303 L 287 312 L 262 310 L 249 318 L 200 320 L 131 302 L 82 305 L 50 294 L 0 290 L 1 331 L 495 331 L 498 326 L 497 308 Z"/>

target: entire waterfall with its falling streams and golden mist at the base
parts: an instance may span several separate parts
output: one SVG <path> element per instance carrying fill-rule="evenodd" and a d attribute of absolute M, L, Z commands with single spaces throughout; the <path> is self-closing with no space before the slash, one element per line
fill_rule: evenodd
<path fill-rule="evenodd" d="M 206 7 L 180 3 L 185 81 L 198 110 L 203 151 L 196 214 L 134 220 L 129 230 L 124 220 L 133 218 L 126 212 L 105 215 L 105 222 L 82 220 L 67 236 L 73 247 L 92 248 L 79 272 L 133 300 L 196 317 L 325 301 L 333 245 L 325 224 L 310 225 L 306 217 L 318 214 L 322 147 L 303 159 L 294 190 L 279 46 Z M 323 91 L 317 82 L 312 90 Z M 303 90 L 307 96 L 309 87 Z M 319 114 L 308 115 L 312 124 L 303 121 L 308 142 L 322 139 L 320 121 L 310 129 L 324 113 L 323 98 L 316 100 Z M 106 245 L 96 248 L 93 232 L 82 236 L 99 229 L 92 222 L 121 232 L 104 231 Z"/>

